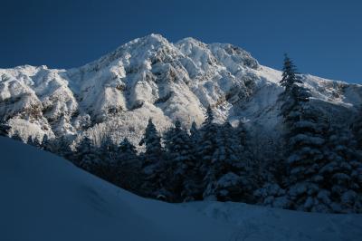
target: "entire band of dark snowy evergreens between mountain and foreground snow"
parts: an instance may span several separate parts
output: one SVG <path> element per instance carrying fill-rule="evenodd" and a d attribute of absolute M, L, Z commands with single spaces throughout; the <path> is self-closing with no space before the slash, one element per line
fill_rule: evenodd
<path fill-rule="evenodd" d="M 66 137 L 29 144 L 70 159 L 75 165 L 121 188 L 169 202 L 213 199 L 258 203 L 311 212 L 362 212 L 362 111 L 354 124 L 332 125 L 310 101 L 300 74 L 285 56 L 279 103 L 282 151 L 256 158 L 243 122 L 204 123 L 185 130 L 176 120 L 161 138 L 148 120 L 138 153 L 128 139 L 110 137 L 95 146 L 87 136 L 71 149 Z M 0 123 L 0 134 L 9 128 Z M 13 138 L 20 139 L 18 134 Z"/>

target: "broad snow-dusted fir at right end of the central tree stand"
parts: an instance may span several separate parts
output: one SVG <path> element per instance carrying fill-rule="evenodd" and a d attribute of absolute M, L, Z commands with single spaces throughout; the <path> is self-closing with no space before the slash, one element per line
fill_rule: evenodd
<path fill-rule="evenodd" d="M 251 169 L 243 159 L 243 148 L 236 133 L 227 121 L 217 128 L 214 153 L 204 178 L 204 198 L 252 200 Z"/>

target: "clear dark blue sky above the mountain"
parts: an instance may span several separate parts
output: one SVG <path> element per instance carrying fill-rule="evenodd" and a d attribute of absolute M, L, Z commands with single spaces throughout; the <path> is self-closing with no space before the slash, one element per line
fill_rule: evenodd
<path fill-rule="evenodd" d="M 80 66 L 156 33 L 233 43 L 281 69 L 362 83 L 362 1 L 2 0 L 0 68 Z"/>

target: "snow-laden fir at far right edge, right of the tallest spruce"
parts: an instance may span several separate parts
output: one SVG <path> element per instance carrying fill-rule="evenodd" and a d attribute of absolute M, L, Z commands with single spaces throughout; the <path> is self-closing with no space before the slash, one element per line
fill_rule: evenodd
<path fill-rule="evenodd" d="M 332 126 L 329 130 L 328 162 L 320 169 L 327 189 L 323 193 L 330 211 L 362 212 L 362 156 L 349 130 Z"/>

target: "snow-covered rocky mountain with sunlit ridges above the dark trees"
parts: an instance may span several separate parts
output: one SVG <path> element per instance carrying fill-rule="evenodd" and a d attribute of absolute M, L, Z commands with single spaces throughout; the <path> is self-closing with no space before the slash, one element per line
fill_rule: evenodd
<path fill-rule="evenodd" d="M 204 120 L 209 105 L 219 121 L 242 120 L 271 138 L 281 133 L 281 72 L 232 44 L 169 43 L 150 34 L 79 68 L 24 65 L 0 69 L 0 76 L 0 119 L 24 139 L 87 133 L 97 141 L 111 133 L 136 143 L 148 118 L 159 130 L 176 119 L 189 127 Z M 331 121 L 353 119 L 361 85 L 302 79 Z"/>

